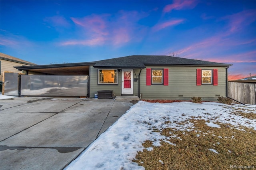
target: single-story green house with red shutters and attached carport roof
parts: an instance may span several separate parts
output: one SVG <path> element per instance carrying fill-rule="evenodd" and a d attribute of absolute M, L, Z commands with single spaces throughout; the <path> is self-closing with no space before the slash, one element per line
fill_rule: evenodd
<path fill-rule="evenodd" d="M 228 94 L 227 69 L 231 64 L 171 57 L 131 55 L 85 63 L 15 67 L 26 74 L 88 75 L 88 97 L 101 90 L 114 96 L 136 95 L 141 99 L 202 97 L 216 101 Z"/>

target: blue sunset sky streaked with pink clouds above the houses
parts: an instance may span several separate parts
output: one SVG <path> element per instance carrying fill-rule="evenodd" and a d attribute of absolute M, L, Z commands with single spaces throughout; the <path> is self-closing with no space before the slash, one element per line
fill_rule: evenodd
<path fill-rule="evenodd" d="M 36 63 L 172 55 L 256 75 L 256 1 L 0 0 L 0 51 Z"/>

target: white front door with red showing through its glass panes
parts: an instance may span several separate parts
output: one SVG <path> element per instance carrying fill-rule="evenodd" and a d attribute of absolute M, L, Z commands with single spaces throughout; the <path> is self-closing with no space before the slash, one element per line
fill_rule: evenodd
<path fill-rule="evenodd" d="M 133 95 L 133 69 L 122 69 L 122 95 Z"/>

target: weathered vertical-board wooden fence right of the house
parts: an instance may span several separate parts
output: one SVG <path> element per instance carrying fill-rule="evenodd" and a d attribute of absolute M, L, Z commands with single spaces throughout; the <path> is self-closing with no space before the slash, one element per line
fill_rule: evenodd
<path fill-rule="evenodd" d="M 256 84 L 228 82 L 228 97 L 244 104 L 255 105 Z"/>

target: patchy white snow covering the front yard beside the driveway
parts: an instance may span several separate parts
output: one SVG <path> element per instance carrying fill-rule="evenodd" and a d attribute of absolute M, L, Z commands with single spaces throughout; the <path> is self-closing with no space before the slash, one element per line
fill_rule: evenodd
<path fill-rule="evenodd" d="M 191 130 L 194 125 L 190 119 L 204 119 L 211 127 L 218 127 L 218 123 L 229 123 L 240 129 L 240 125 L 252 127 L 256 130 L 256 120 L 230 114 L 238 109 L 250 109 L 245 113 L 255 113 L 255 105 L 224 105 L 220 103 L 204 102 L 196 104 L 191 102 L 180 103 L 148 103 L 138 102 L 132 106 L 114 125 L 101 134 L 66 170 L 108 170 L 108 169 L 134 169 L 144 170 L 132 162 L 138 151 L 144 147 L 145 140 L 154 141 L 155 146 L 160 146 L 160 140 L 176 137 L 162 136 L 153 129 L 175 128 L 177 130 Z M 165 122 L 169 121 L 168 124 Z M 179 125 L 179 122 L 182 125 Z M 146 148 L 152 150 L 153 148 Z M 211 150 L 211 148 L 209 148 Z M 214 150 L 212 150 L 214 152 Z"/>

